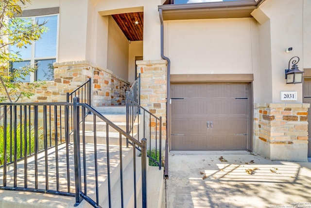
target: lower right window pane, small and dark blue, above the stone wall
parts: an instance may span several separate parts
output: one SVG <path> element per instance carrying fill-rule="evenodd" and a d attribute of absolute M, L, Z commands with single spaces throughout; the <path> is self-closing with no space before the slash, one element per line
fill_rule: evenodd
<path fill-rule="evenodd" d="M 36 61 L 38 69 L 36 71 L 37 81 L 52 81 L 54 80 L 53 63 L 56 59 L 46 59 Z"/>

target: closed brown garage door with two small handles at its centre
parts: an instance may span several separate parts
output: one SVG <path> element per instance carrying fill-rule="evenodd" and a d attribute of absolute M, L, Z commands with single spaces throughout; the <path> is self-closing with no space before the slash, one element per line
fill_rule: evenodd
<path fill-rule="evenodd" d="M 248 84 L 172 84 L 172 150 L 246 150 Z"/>

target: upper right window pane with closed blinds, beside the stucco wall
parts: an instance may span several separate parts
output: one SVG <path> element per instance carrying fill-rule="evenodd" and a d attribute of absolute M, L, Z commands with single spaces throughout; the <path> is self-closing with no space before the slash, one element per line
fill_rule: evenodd
<path fill-rule="evenodd" d="M 35 18 L 38 23 L 48 21 L 45 26 L 47 32 L 35 42 L 35 57 L 56 57 L 57 15 Z"/>

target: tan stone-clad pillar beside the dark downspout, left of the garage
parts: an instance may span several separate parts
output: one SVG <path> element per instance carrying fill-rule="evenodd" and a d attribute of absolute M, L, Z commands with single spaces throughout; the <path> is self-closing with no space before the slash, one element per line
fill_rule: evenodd
<path fill-rule="evenodd" d="M 136 64 L 141 77 L 140 104 L 157 117 L 162 116 L 162 139 L 166 139 L 167 61 L 142 60 Z M 155 120 L 151 120 L 150 125 L 151 132 L 155 132 Z"/>

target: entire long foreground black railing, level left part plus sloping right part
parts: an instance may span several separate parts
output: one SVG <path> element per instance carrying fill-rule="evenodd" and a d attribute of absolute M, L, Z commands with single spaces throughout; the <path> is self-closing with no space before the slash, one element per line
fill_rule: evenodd
<path fill-rule="evenodd" d="M 69 142 L 71 107 L 73 144 Z M 105 145 L 101 144 L 96 125 L 92 142 L 86 142 L 86 133 L 89 133 L 85 129 L 86 111 L 93 114 L 94 124 L 96 119 L 105 122 Z M 109 145 L 113 139 L 111 129 L 118 134 L 118 146 Z M 122 144 L 125 138 L 132 148 Z M 137 157 L 137 149 L 141 157 Z M 0 189 L 70 196 L 75 197 L 75 206 L 85 199 L 98 208 L 110 208 L 114 198 L 118 202 L 121 199 L 120 207 L 123 207 L 125 195 L 134 193 L 133 206 L 146 208 L 146 149 L 146 139 L 139 142 L 86 103 L 79 103 L 79 98 L 74 98 L 73 103 L 0 103 Z M 127 151 L 132 151 L 132 162 L 127 164 L 133 164 L 133 170 L 129 170 L 133 177 L 125 179 L 123 171 L 129 165 L 123 167 L 123 160 Z M 120 168 L 116 168 L 118 166 Z M 137 187 L 140 168 L 141 192 Z M 113 170 L 119 170 L 119 176 L 111 175 Z M 121 181 L 119 189 L 112 187 L 116 177 Z M 128 184 L 132 184 L 133 189 Z M 105 194 L 107 204 L 101 201 Z M 138 198 L 142 199 L 141 205 Z"/>

